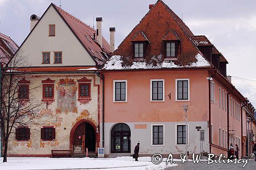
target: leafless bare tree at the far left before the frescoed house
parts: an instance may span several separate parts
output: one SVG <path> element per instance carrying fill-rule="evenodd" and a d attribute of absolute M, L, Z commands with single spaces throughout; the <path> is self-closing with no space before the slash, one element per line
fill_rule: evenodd
<path fill-rule="evenodd" d="M 33 98 L 37 87 L 21 88 L 20 82 L 30 80 L 27 58 L 22 52 L 17 52 L 9 63 L 2 68 L 0 95 L 0 128 L 4 140 L 4 160 L 7 162 L 8 140 L 15 129 L 32 124 L 32 119 L 38 113 L 40 102 Z M 31 83 L 30 83 L 31 84 Z M 29 99 L 26 98 L 29 96 Z"/>

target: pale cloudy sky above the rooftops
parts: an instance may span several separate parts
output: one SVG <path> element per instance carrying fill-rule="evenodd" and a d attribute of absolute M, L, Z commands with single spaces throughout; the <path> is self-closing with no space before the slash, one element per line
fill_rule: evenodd
<path fill-rule="evenodd" d="M 41 16 L 50 3 L 59 0 L 0 0 L 0 32 L 19 45 L 30 30 L 30 16 Z M 153 0 L 61 0 L 62 9 L 90 26 L 103 17 L 103 36 L 109 40 L 109 27 L 116 27 L 116 47 L 147 13 Z M 232 83 L 256 106 L 256 1 L 164 0 L 195 35 L 206 35 L 229 64 Z M 239 77 L 239 78 L 234 78 Z M 244 79 L 240 79 L 244 78 Z M 250 79 L 254 81 L 249 81 Z"/>

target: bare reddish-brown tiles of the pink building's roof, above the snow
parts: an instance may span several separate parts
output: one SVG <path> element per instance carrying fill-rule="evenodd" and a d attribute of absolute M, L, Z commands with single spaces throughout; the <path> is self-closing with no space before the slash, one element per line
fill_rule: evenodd
<path fill-rule="evenodd" d="M 170 33 L 172 30 L 174 30 L 176 35 Z M 167 5 L 159 0 L 141 19 L 132 32 L 126 36 L 118 46 L 117 50 L 114 51 L 113 55 L 122 56 L 122 65 L 132 64 L 133 52 L 131 41 L 140 31 L 146 35 L 150 42 L 150 47 L 147 48 L 145 53 L 145 62 L 156 62 L 155 60 L 152 61 L 153 56 L 163 56 L 163 39 L 168 33 L 170 33 L 168 35 L 169 38 L 177 39 L 178 37 L 181 42 L 178 51 L 178 60 L 169 62 L 173 62 L 178 66 L 187 66 L 198 61 L 196 56 L 201 54 L 201 52 L 190 38 L 193 37 L 194 34 Z M 162 60 L 159 62 L 161 61 Z"/>

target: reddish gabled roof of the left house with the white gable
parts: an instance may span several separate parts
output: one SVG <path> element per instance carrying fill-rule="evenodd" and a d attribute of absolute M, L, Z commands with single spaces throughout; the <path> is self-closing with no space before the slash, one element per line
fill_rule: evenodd
<path fill-rule="evenodd" d="M 106 59 L 108 59 L 110 54 L 110 45 L 109 43 L 103 38 L 102 36 L 102 47 L 93 40 L 93 34 L 96 34 L 96 30 L 91 28 L 90 26 L 86 25 L 86 23 L 82 22 L 78 18 L 74 17 L 70 13 L 62 10 L 61 8 L 57 7 L 53 3 L 47 8 L 47 10 L 42 14 L 40 19 L 37 21 L 34 28 L 30 31 L 29 35 L 23 41 L 23 43 L 27 40 L 33 30 L 36 28 L 40 20 L 44 17 L 45 13 L 48 11 L 50 7 L 53 7 L 59 16 L 63 19 L 63 21 L 67 24 L 70 30 L 73 32 L 75 37 L 79 40 L 82 46 L 86 49 L 92 59 L 95 61 L 96 65 L 102 65 Z M 23 45 L 20 45 L 20 47 Z M 20 48 L 19 47 L 19 48 Z"/>

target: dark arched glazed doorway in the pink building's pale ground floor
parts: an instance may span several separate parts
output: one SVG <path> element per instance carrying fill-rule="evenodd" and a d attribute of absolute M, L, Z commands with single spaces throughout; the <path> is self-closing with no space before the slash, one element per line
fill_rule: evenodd
<path fill-rule="evenodd" d="M 131 153 L 131 130 L 128 125 L 120 123 L 112 128 L 111 153 Z"/>

